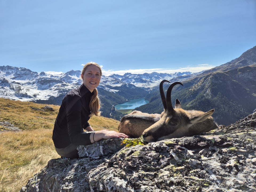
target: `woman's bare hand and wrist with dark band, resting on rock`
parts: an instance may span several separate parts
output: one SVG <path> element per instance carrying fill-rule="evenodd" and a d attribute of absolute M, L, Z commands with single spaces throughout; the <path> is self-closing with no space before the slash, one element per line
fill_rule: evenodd
<path fill-rule="evenodd" d="M 129 136 L 124 133 L 103 129 L 103 130 L 95 131 L 94 133 L 92 133 L 90 135 L 90 140 L 91 140 L 91 143 L 93 143 L 101 139 L 119 138 L 119 137 L 129 137 Z"/>

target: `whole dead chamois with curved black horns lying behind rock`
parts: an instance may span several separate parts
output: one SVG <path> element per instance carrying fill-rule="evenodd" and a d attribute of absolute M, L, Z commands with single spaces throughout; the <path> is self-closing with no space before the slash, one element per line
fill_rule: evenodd
<path fill-rule="evenodd" d="M 130 135 L 131 137 L 139 137 L 142 133 L 142 138 L 144 141 L 153 142 L 160 141 L 162 139 L 197 135 L 202 132 L 207 132 L 218 128 L 216 123 L 213 121 L 213 117 L 211 117 L 214 109 L 206 113 L 196 110 L 183 110 L 178 99 L 176 99 L 174 109 L 171 104 L 171 90 L 175 85 L 182 85 L 182 83 L 172 83 L 167 89 L 165 98 L 163 91 L 164 82 L 169 81 L 163 80 L 159 85 L 160 95 L 164 107 L 160 118 L 159 114 L 147 114 L 140 111 L 133 111 L 132 113 L 125 115 L 120 120 L 118 126 L 119 132 Z M 145 121 L 148 122 L 145 123 Z M 146 127 L 149 124 L 151 125 Z M 142 130 L 144 131 L 141 132 Z"/>

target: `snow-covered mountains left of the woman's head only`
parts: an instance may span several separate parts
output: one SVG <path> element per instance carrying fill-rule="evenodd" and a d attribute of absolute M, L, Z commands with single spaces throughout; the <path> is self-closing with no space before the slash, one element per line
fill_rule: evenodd
<path fill-rule="evenodd" d="M 23 67 L 0 66 L 0 97 L 21 100 L 47 100 L 78 86 L 80 74 L 37 73 Z"/>

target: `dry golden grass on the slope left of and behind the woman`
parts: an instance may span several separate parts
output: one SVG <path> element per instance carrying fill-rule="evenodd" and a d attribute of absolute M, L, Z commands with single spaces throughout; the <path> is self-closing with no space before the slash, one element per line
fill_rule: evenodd
<path fill-rule="evenodd" d="M 36 111 L 45 104 L 12 101 L 0 98 L 0 121 L 8 121 L 22 131 L 0 132 L 0 191 L 19 191 L 28 179 L 38 173 L 47 162 L 59 158 L 51 139 L 59 106 L 55 111 Z M 95 130 L 117 131 L 118 121 L 105 117 L 92 117 Z"/>

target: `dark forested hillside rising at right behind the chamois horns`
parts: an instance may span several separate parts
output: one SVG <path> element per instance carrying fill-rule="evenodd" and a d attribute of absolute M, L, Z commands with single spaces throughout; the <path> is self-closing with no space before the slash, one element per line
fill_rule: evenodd
<path fill-rule="evenodd" d="M 182 81 L 172 91 L 172 103 L 178 98 L 185 110 L 209 111 L 218 124 L 229 125 L 256 109 L 256 46 L 241 57 Z M 250 65 L 248 65 L 250 64 Z M 175 80 L 171 79 L 170 82 Z M 164 84 L 167 90 L 168 83 Z M 150 103 L 136 108 L 146 113 L 161 113 L 159 90 L 146 96 Z"/>

